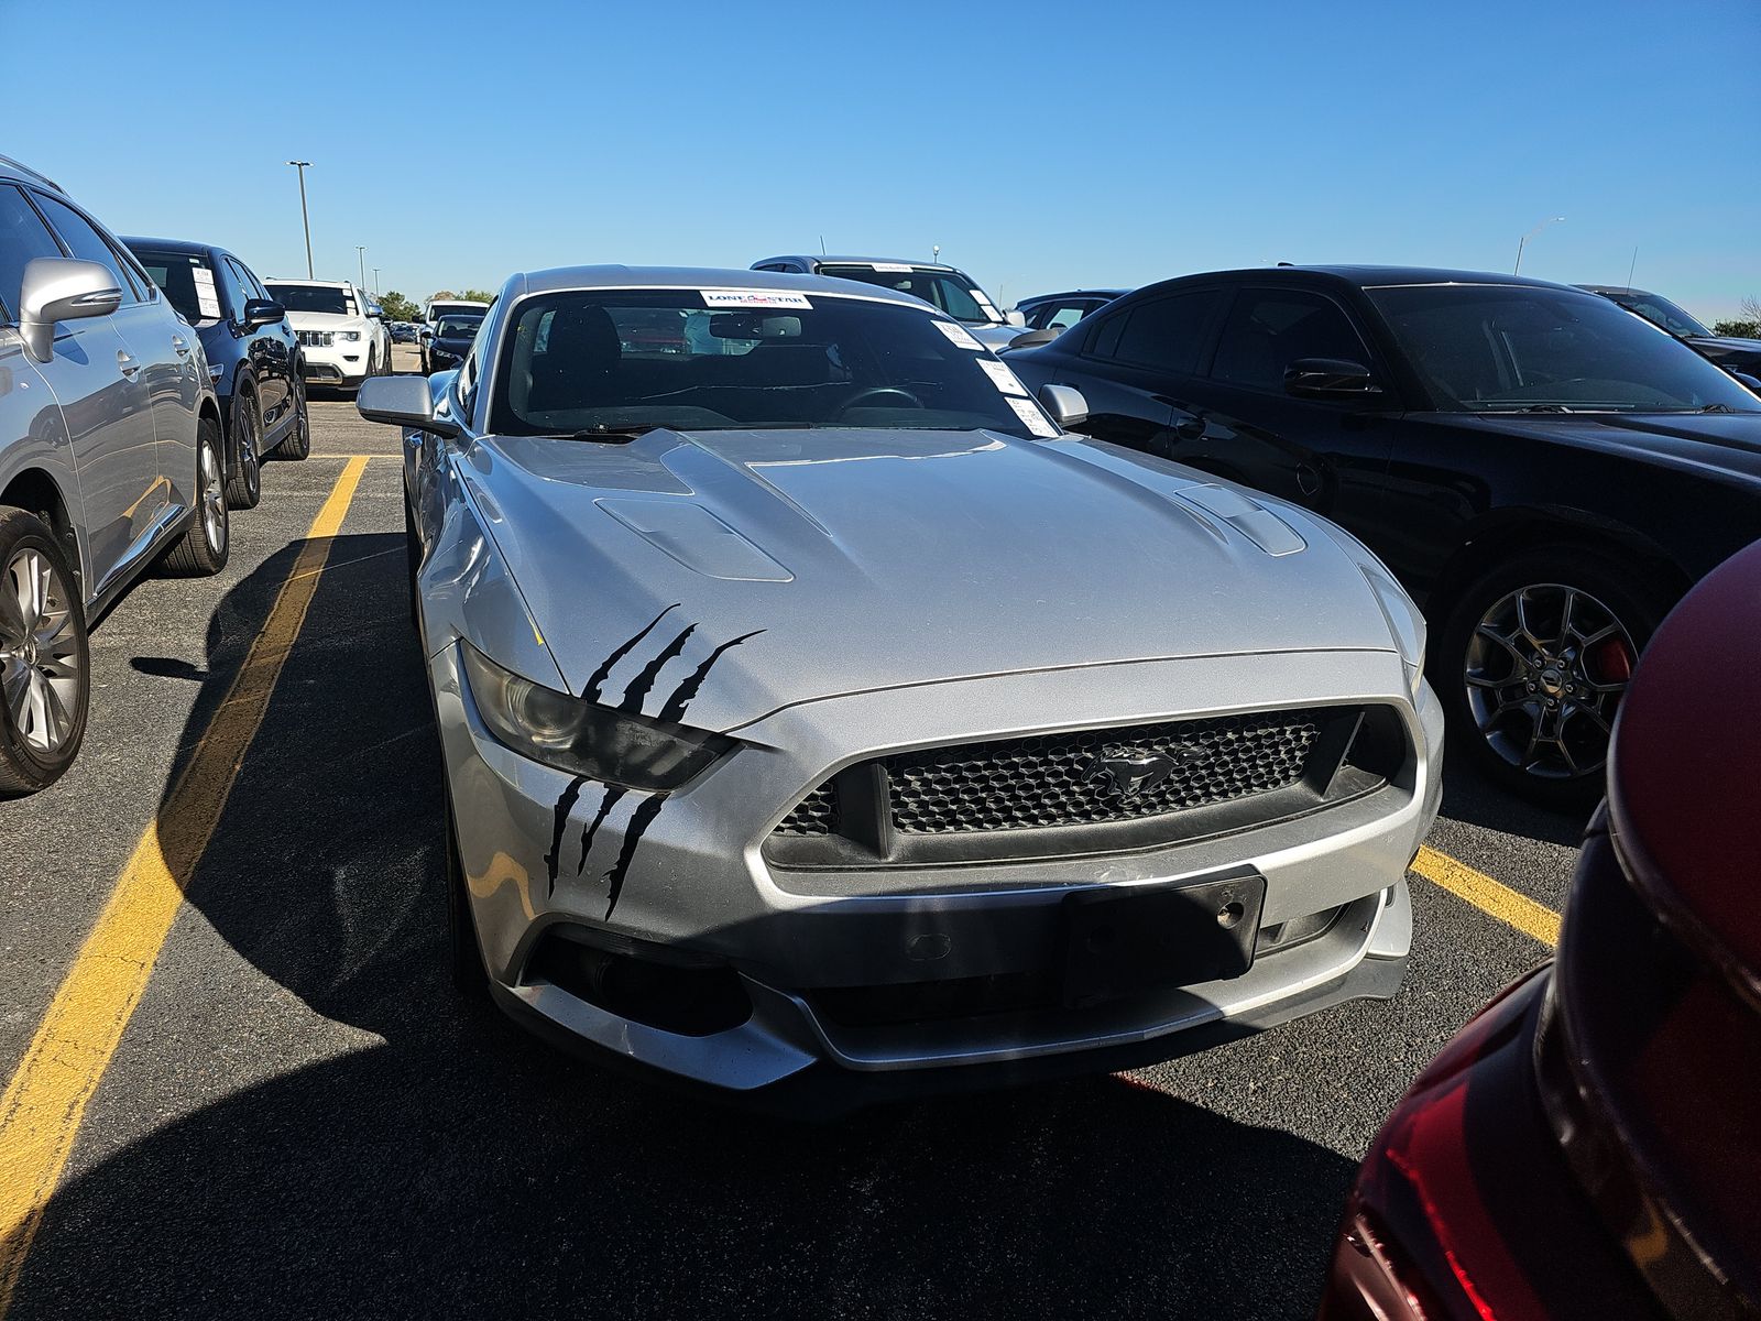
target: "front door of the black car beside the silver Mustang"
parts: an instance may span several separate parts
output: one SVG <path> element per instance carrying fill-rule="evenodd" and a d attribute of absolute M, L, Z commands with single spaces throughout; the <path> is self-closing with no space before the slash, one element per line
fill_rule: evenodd
<path fill-rule="evenodd" d="M 1361 363 L 1382 393 L 1314 400 L 1286 391 L 1305 358 Z M 1169 458 L 1307 506 L 1361 534 L 1374 525 L 1400 407 L 1345 306 L 1314 289 L 1242 285 L 1203 380 L 1182 391 Z"/>

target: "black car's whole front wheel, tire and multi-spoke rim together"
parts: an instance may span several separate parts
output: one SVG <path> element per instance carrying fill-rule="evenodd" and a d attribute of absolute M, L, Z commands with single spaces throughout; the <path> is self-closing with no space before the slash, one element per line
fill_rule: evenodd
<path fill-rule="evenodd" d="M 1603 793 L 1620 697 L 1666 594 L 1576 548 L 1525 551 L 1481 574 L 1442 629 L 1432 685 L 1485 771 L 1560 807 Z"/>

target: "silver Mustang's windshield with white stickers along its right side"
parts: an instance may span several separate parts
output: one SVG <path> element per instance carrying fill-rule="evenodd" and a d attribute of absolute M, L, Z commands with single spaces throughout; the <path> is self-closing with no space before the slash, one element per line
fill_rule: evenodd
<path fill-rule="evenodd" d="M 490 428 L 888 426 L 1057 435 L 1014 373 L 926 310 L 766 289 L 592 289 L 519 303 Z"/>

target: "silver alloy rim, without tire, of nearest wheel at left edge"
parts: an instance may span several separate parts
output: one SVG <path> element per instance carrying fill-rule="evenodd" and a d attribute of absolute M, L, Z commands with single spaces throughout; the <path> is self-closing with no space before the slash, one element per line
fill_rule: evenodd
<path fill-rule="evenodd" d="M 67 583 L 32 546 L 0 576 L 0 694 L 18 736 L 55 754 L 77 727 L 79 639 Z"/>

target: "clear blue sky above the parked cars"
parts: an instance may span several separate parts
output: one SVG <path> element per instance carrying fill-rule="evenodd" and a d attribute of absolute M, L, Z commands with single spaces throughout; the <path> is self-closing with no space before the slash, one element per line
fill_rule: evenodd
<path fill-rule="evenodd" d="M 312 160 L 319 275 L 365 243 L 412 296 L 824 236 L 940 245 L 1007 306 L 1273 261 L 1509 269 L 1562 215 L 1525 273 L 1618 284 L 1638 247 L 1636 284 L 1715 319 L 1761 298 L 1757 56 L 1757 0 L 0 0 L 0 150 L 261 275 L 305 269 L 282 162 Z"/>

